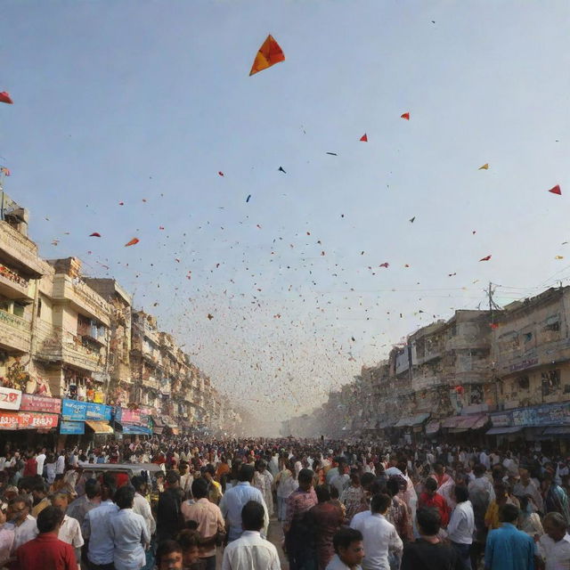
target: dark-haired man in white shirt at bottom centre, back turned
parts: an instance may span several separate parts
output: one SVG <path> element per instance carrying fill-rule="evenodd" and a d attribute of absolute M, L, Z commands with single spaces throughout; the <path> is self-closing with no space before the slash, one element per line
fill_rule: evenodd
<path fill-rule="evenodd" d="M 225 548 L 222 570 L 281 570 L 277 549 L 261 536 L 264 525 L 264 507 L 248 501 L 241 509 L 243 533 Z"/>

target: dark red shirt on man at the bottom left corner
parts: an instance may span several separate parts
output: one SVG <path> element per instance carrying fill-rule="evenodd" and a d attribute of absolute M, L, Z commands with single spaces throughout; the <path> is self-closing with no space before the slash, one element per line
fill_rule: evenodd
<path fill-rule="evenodd" d="M 67 542 L 53 533 L 40 534 L 26 542 L 16 552 L 19 568 L 50 568 L 50 570 L 77 570 L 75 552 Z"/>

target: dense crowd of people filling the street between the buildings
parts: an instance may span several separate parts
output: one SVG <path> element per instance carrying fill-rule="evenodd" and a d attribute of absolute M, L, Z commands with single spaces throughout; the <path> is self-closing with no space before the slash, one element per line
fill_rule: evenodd
<path fill-rule="evenodd" d="M 277 570 L 277 542 L 290 570 L 570 569 L 569 479 L 530 446 L 7 443 L 0 568 Z"/>

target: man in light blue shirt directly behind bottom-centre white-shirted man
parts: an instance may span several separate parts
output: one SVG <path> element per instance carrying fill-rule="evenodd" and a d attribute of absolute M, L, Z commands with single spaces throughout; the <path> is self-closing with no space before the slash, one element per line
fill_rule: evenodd
<path fill-rule="evenodd" d="M 255 468 L 253 466 L 248 464 L 242 465 L 238 475 L 238 485 L 229 489 L 222 497 L 222 501 L 220 501 L 220 510 L 226 521 L 228 542 L 239 539 L 243 532 L 241 528 L 241 509 L 248 501 L 256 501 L 265 509 L 265 525 L 262 535 L 267 535 L 269 516 L 267 515 L 267 507 L 263 495 L 259 489 L 251 485 L 254 474 Z"/>

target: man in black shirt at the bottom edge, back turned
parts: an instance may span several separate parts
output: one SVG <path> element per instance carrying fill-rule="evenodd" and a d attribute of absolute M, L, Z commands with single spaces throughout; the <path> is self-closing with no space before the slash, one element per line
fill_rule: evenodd
<path fill-rule="evenodd" d="M 440 511 L 433 507 L 420 507 L 416 523 L 419 539 L 403 547 L 400 570 L 462 570 L 457 551 L 439 538 Z"/>

